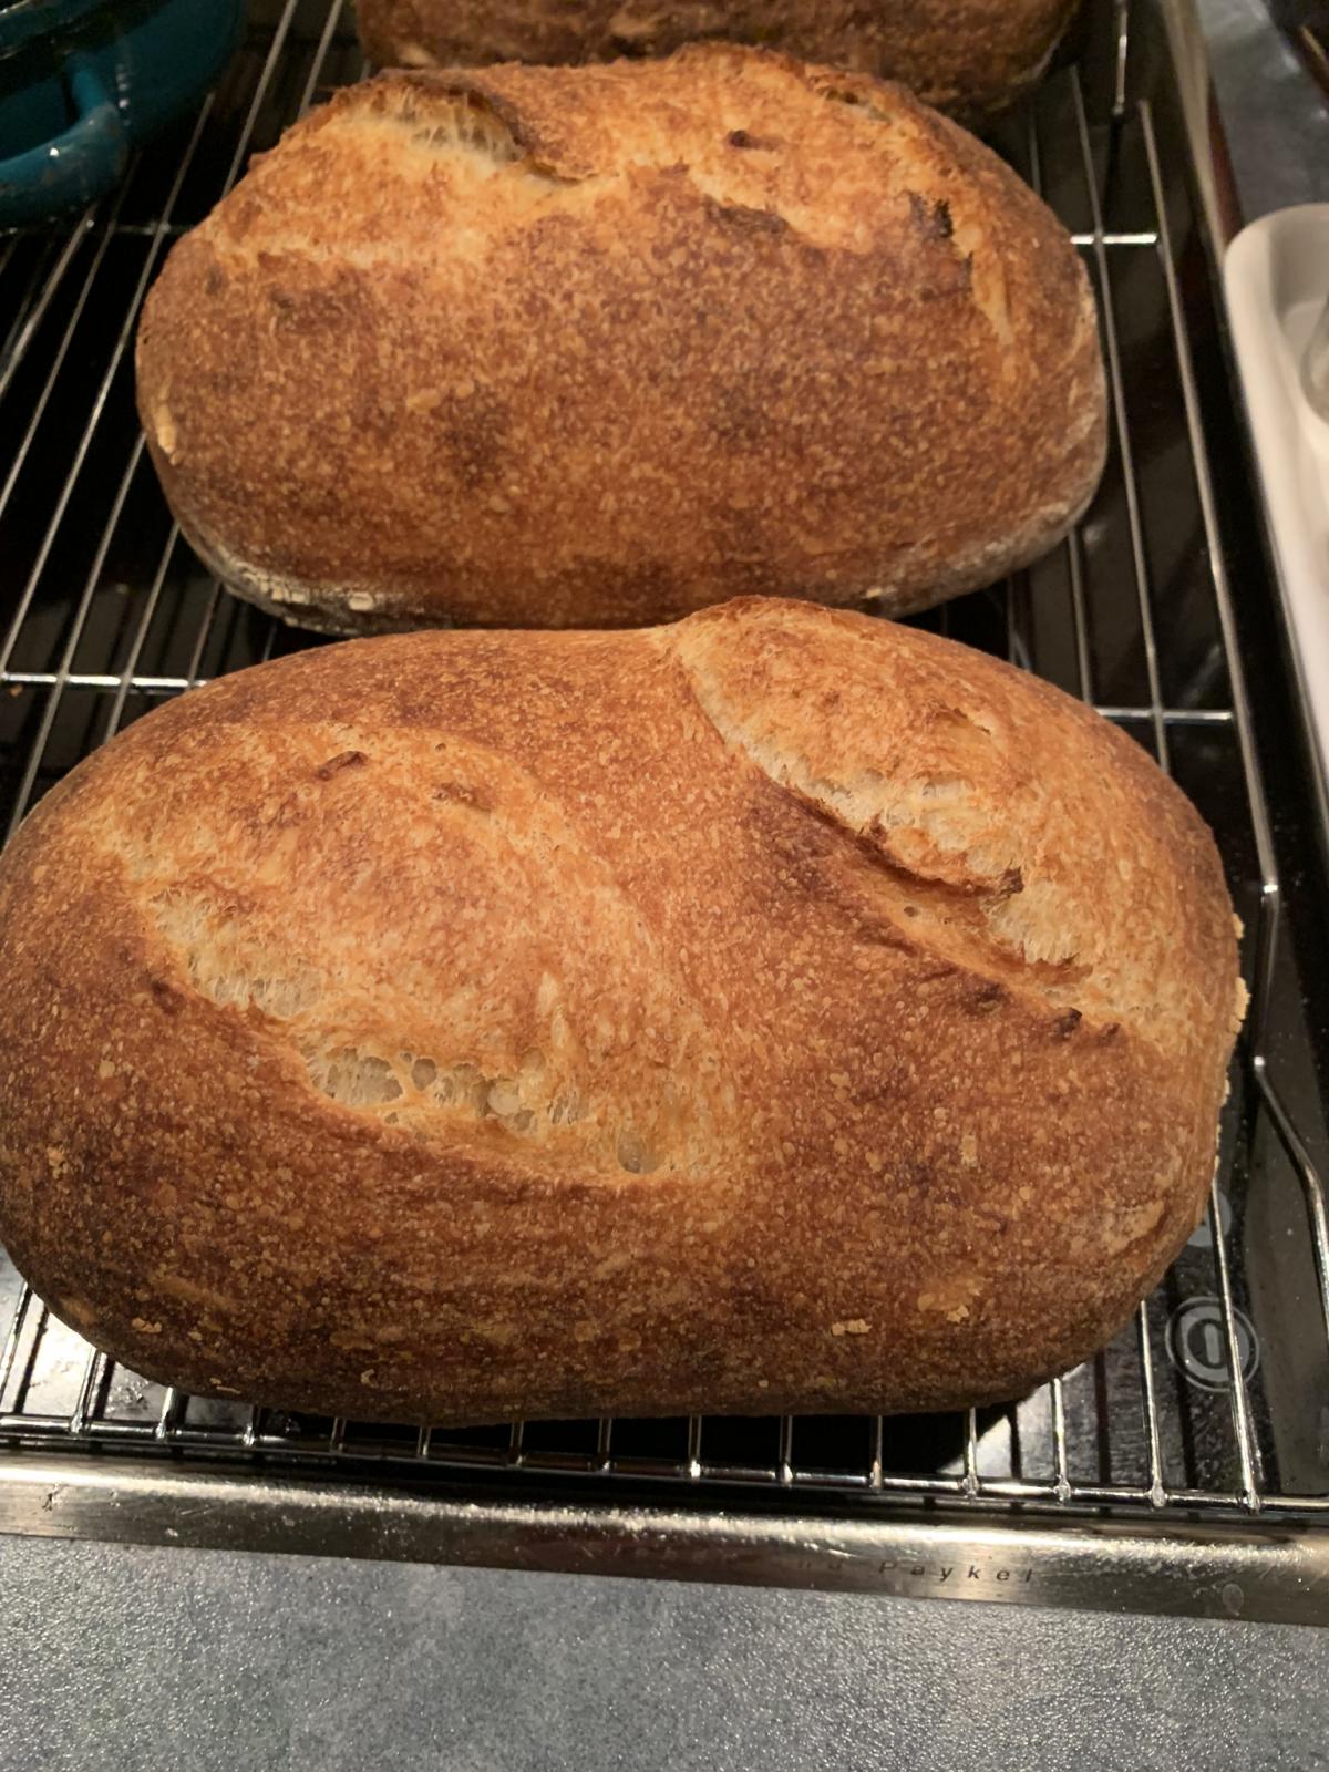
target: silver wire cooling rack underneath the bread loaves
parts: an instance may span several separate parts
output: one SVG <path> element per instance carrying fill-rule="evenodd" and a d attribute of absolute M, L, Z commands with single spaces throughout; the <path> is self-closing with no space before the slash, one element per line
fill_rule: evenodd
<path fill-rule="evenodd" d="M 1185 179 L 1164 174 L 1175 154 L 1159 147 L 1154 74 L 1136 80 L 1131 16 L 1123 4 L 1099 7 L 1097 51 L 1054 76 L 998 142 L 1070 227 L 1099 294 L 1113 399 L 1108 477 L 1054 556 L 930 618 L 1081 695 L 1150 750 L 1214 826 L 1246 920 L 1253 1010 L 1210 1214 L 1131 1329 L 1033 1396 L 968 1416 L 416 1432 L 163 1391 L 53 1320 L 0 1256 L 0 1442 L 262 1462 L 324 1478 L 455 1485 L 491 1473 L 517 1492 L 535 1494 L 532 1478 L 540 1494 L 562 1485 L 565 1497 L 592 1478 L 682 1485 L 705 1504 L 755 1485 L 804 1501 L 1113 1506 L 1154 1519 L 1329 1512 L 1318 1017 L 1294 953 L 1297 900 L 1288 914 L 1279 890 L 1279 858 L 1290 854 L 1301 879 L 1315 833 L 1295 781 L 1283 780 L 1286 758 L 1278 806 L 1262 783 L 1271 748 L 1253 725 L 1242 659 L 1269 587 L 1256 569 L 1233 602 L 1228 489 L 1247 528 L 1249 493 L 1209 266 Z M 285 0 L 255 23 L 213 99 L 142 156 L 113 198 L 57 230 L 0 236 L 7 831 L 163 696 L 310 643 L 232 601 L 179 539 L 135 420 L 131 344 L 172 239 L 253 149 L 361 71 L 344 0 Z M 1255 656 L 1262 702 L 1292 695 L 1286 679 L 1271 679 L 1272 656 Z"/>

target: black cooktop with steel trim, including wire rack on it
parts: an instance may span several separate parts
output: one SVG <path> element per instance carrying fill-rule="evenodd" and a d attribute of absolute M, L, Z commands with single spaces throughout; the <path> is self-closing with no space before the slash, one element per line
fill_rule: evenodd
<path fill-rule="evenodd" d="M 1132 1327 L 968 1416 L 416 1434 L 161 1391 L 0 1263 L 0 1529 L 1329 1623 L 1325 826 L 1224 361 L 1198 43 L 1185 0 L 1104 0 L 998 133 L 1095 282 L 1113 454 L 1063 549 L 932 618 L 1171 769 L 1247 925 L 1210 1217 Z M 113 198 L 0 236 L 0 829 L 154 702 L 303 643 L 172 526 L 131 340 L 172 237 L 360 73 L 342 4 L 259 9 Z"/>

